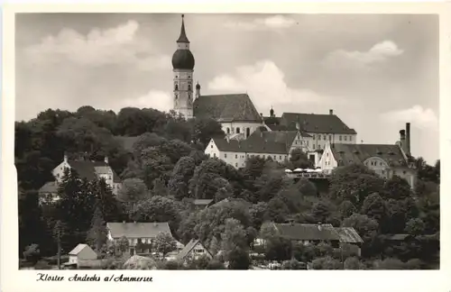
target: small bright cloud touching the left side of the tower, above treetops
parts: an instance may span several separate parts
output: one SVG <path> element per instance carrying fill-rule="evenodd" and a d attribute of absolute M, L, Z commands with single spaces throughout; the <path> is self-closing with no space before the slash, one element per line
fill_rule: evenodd
<path fill-rule="evenodd" d="M 138 108 L 152 107 L 160 111 L 169 112 L 173 107 L 173 101 L 169 92 L 151 90 L 143 96 L 121 100 L 115 105 L 115 110 L 119 111 L 121 108 L 127 106 Z"/>

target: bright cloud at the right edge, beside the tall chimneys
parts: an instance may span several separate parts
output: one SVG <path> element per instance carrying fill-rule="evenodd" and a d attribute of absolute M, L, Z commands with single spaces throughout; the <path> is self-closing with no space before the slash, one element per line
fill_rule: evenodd
<path fill-rule="evenodd" d="M 394 123 L 413 123 L 420 129 L 438 131 L 437 114 L 430 108 L 414 105 L 407 109 L 381 114 L 382 119 Z"/>

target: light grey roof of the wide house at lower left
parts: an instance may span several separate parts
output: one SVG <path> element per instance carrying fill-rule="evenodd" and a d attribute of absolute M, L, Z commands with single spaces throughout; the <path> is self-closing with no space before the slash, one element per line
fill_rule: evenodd
<path fill-rule="evenodd" d="M 113 238 L 153 238 L 158 233 L 170 233 L 170 226 L 167 222 L 159 223 L 111 223 L 106 224 L 106 228 Z M 172 233 L 170 233 L 172 235 Z"/>

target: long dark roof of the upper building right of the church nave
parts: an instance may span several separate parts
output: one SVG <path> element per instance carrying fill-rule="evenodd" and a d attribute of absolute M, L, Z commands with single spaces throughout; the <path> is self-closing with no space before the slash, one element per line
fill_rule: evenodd
<path fill-rule="evenodd" d="M 335 114 L 282 114 L 281 124 L 289 130 L 295 130 L 296 123 L 306 132 L 356 134 Z"/>

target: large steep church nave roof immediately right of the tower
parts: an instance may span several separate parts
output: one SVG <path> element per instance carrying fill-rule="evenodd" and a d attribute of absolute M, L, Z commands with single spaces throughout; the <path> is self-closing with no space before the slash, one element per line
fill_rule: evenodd
<path fill-rule="evenodd" d="M 218 122 L 262 122 L 247 94 L 199 96 L 194 101 L 194 116 L 209 117 Z"/>

